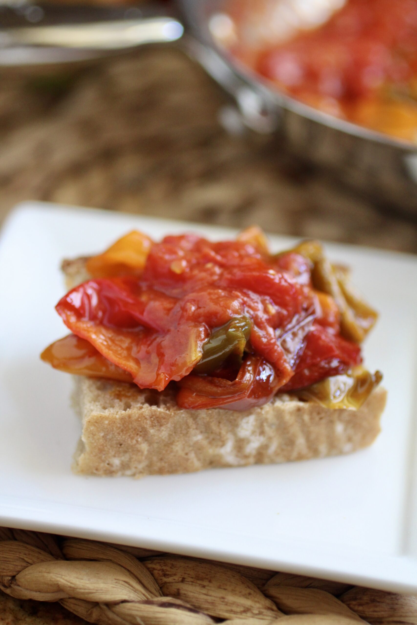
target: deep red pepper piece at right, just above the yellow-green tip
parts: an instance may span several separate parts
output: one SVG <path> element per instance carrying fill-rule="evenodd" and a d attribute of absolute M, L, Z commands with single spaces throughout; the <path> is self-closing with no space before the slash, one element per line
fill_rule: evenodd
<path fill-rule="evenodd" d="M 301 389 L 325 377 L 345 373 L 351 366 L 360 364 L 361 348 L 324 327 L 314 324 L 307 336 L 306 347 L 298 361 L 294 376 L 279 392 Z"/>

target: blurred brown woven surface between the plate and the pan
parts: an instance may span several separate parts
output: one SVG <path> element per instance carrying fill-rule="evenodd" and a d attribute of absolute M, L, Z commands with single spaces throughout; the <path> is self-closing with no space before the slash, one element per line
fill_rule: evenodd
<path fill-rule="evenodd" d="M 382 212 L 277 139 L 229 135 L 221 91 L 180 51 L 0 81 L 0 219 L 25 199 L 417 252 L 417 221 Z"/>

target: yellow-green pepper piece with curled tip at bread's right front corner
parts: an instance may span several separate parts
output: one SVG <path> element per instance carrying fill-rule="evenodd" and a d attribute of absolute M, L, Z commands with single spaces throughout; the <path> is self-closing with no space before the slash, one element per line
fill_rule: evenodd
<path fill-rule="evenodd" d="M 369 373 L 362 367 L 356 367 L 341 376 L 327 377 L 295 394 L 299 399 L 314 401 L 326 408 L 358 410 L 381 379 L 379 371 Z"/>

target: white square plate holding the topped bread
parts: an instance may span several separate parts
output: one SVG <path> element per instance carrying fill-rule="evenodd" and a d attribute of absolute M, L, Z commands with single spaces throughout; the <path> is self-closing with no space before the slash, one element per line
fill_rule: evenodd
<path fill-rule="evenodd" d="M 383 431 L 347 456 L 130 478 L 69 469 L 80 424 L 70 376 L 39 360 L 66 329 L 54 311 L 63 257 L 132 228 L 158 239 L 225 229 L 26 203 L 0 244 L 0 524 L 417 591 L 417 258 L 329 244 L 381 312 L 366 363 L 389 391 Z M 275 249 L 293 243 L 271 237 Z"/>

